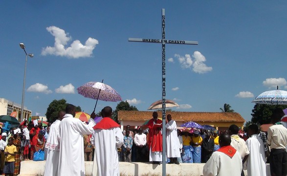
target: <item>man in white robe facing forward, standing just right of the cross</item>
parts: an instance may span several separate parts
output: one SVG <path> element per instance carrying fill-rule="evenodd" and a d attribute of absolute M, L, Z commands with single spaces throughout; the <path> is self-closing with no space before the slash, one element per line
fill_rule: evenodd
<path fill-rule="evenodd" d="M 168 114 L 166 119 L 166 154 L 170 158 L 169 164 L 179 164 L 177 157 L 180 157 L 179 140 L 177 137 L 177 123 Z"/>

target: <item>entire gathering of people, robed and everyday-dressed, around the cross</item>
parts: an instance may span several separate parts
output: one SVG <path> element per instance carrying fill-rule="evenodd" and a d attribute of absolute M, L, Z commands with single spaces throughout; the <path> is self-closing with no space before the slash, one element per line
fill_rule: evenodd
<path fill-rule="evenodd" d="M 43 128 L 42 123 L 27 123 L 19 129 L 1 132 L 0 172 L 7 176 L 20 173 L 21 161 L 32 160 L 42 150 L 46 159 L 44 176 L 85 176 L 84 161 L 93 161 L 93 175 L 119 175 L 119 161 L 162 162 L 162 120 L 156 111 L 146 125 L 122 132 L 111 119 L 112 109 L 105 107 L 103 119 L 95 123 L 94 112 L 88 122 L 75 116 L 75 106 L 59 111 L 58 119 Z M 204 176 L 266 176 L 266 159 L 272 176 L 287 175 L 287 128 L 280 109 L 272 114 L 274 124 L 265 132 L 257 125 L 248 127 L 247 136 L 239 135 L 239 127 L 228 131 L 177 129 L 170 114 L 166 118 L 166 156 L 168 164 L 205 163 Z"/>

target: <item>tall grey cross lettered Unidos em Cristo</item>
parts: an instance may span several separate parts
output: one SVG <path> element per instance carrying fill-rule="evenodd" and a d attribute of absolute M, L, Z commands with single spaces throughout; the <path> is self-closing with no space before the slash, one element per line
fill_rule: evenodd
<path fill-rule="evenodd" d="M 129 38 L 129 42 L 147 42 L 147 43 L 161 43 L 161 75 L 162 75 L 162 176 L 166 176 L 166 127 L 165 127 L 165 96 L 166 96 L 166 84 L 165 84 L 165 44 L 199 44 L 194 41 L 181 41 L 181 40 L 167 40 L 165 39 L 165 10 L 161 11 L 161 40 L 160 39 L 137 39 Z"/>

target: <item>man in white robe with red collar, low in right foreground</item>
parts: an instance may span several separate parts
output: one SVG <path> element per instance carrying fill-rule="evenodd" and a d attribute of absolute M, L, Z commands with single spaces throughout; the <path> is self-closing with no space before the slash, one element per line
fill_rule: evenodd
<path fill-rule="evenodd" d="M 203 176 L 241 176 L 242 159 L 230 143 L 228 134 L 219 137 L 221 148 L 215 151 L 203 166 Z"/>

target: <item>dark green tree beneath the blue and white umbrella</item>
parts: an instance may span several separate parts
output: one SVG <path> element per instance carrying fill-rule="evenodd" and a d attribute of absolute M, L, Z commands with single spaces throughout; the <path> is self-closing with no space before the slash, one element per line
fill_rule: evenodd
<path fill-rule="evenodd" d="M 271 123 L 272 111 L 276 108 L 281 108 L 283 110 L 287 108 L 287 105 L 255 104 L 251 113 L 251 122 L 260 125 Z"/>

